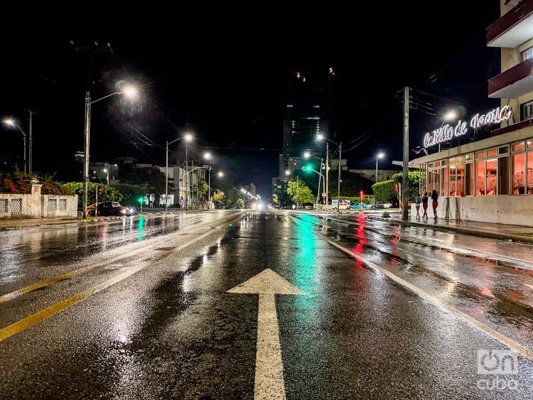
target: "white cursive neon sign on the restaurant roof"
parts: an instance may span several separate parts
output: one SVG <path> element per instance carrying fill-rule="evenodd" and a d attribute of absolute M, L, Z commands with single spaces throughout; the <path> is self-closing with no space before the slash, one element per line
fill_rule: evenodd
<path fill-rule="evenodd" d="M 510 119 L 511 116 L 512 111 L 509 106 L 504 106 L 502 108 L 497 107 L 487 114 L 475 114 L 474 117 L 470 119 L 470 128 L 479 129 L 483 126 L 499 124 L 501 121 Z M 445 141 L 451 141 L 454 136 L 459 137 L 467 133 L 467 124 L 465 121 L 461 121 L 460 119 L 456 126 L 446 124 L 438 129 L 435 129 L 431 133 L 426 133 L 424 135 L 424 147 L 428 148 Z"/>

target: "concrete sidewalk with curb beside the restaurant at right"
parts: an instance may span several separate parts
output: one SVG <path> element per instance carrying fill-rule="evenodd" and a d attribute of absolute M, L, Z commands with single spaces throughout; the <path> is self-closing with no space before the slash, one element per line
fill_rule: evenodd
<path fill-rule="evenodd" d="M 369 218 L 371 220 L 386 221 L 407 227 L 423 227 L 426 229 L 472 234 L 490 239 L 512 240 L 513 242 L 533 244 L 533 227 L 492 224 L 489 222 L 446 220 L 444 218 L 434 220 L 432 217 L 424 221 L 415 220 L 411 215 L 409 215 L 409 220 L 407 221 L 402 220 L 402 215 L 391 215 L 389 218 L 370 215 Z"/>

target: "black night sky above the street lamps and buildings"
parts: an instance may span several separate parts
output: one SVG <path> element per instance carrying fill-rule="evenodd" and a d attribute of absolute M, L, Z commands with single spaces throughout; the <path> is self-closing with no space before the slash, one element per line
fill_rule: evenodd
<path fill-rule="evenodd" d="M 65 30 L 53 38 L 9 31 L 0 114 L 27 129 L 24 109 L 37 112 L 33 169 L 59 180 L 79 173 L 81 180 L 74 154 L 83 148 L 88 76 L 93 99 L 113 92 L 121 80 L 135 82 L 141 87 L 136 102 L 114 96 L 93 105 L 91 161 L 133 156 L 164 165 L 165 141 L 193 131 L 192 156 L 199 161 L 208 148 L 215 168 L 231 173 L 237 185 L 256 183 L 266 197 L 278 173 L 290 70 L 305 68 L 312 76 L 335 68 L 332 139 L 345 148 L 359 144 L 345 154 L 353 168 L 373 168 L 377 151 L 387 154 L 380 168 L 402 159 L 399 91 L 405 85 L 416 90 L 418 104 L 437 114 L 412 110 L 412 148 L 441 125 L 439 116 L 448 109 L 468 118 L 499 104 L 487 98 L 487 80 L 499 72 L 500 53 L 485 46 L 499 1 L 357 6 L 350 13 L 307 9 L 306 17 L 269 10 L 264 21 L 197 16 L 171 28 L 153 21 L 131 36 L 124 30 L 105 37 Z M 6 38 L 6 27 L 2 33 Z M 95 52 L 95 41 L 102 50 Z M 2 126 L 0 135 L 0 156 L 22 152 L 17 131 Z M 172 149 L 183 158 L 179 142 Z"/>

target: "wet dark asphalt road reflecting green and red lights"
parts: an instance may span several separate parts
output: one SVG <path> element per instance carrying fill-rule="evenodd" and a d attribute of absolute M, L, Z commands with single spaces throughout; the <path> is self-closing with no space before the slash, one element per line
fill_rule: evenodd
<path fill-rule="evenodd" d="M 533 398 L 525 357 L 502 377 L 517 389 L 479 389 L 495 376 L 478 374 L 478 350 L 507 347 L 450 312 L 532 350 L 532 247 L 328 218 L 227 210 L 0 232 L 0 397 L 252 398 L 258 296 L 227 291 L 269 268 L 306 293 L 275 297 L 289 399 Z"/>

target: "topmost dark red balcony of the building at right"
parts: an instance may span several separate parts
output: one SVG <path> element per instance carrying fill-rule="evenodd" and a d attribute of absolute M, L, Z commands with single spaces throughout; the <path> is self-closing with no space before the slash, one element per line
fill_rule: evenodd
<path fill-rule="evenodd" d="M 533 37 L 533 0 L 522 0 L 487 29 L 490 47 L 517 48 Z"/>

